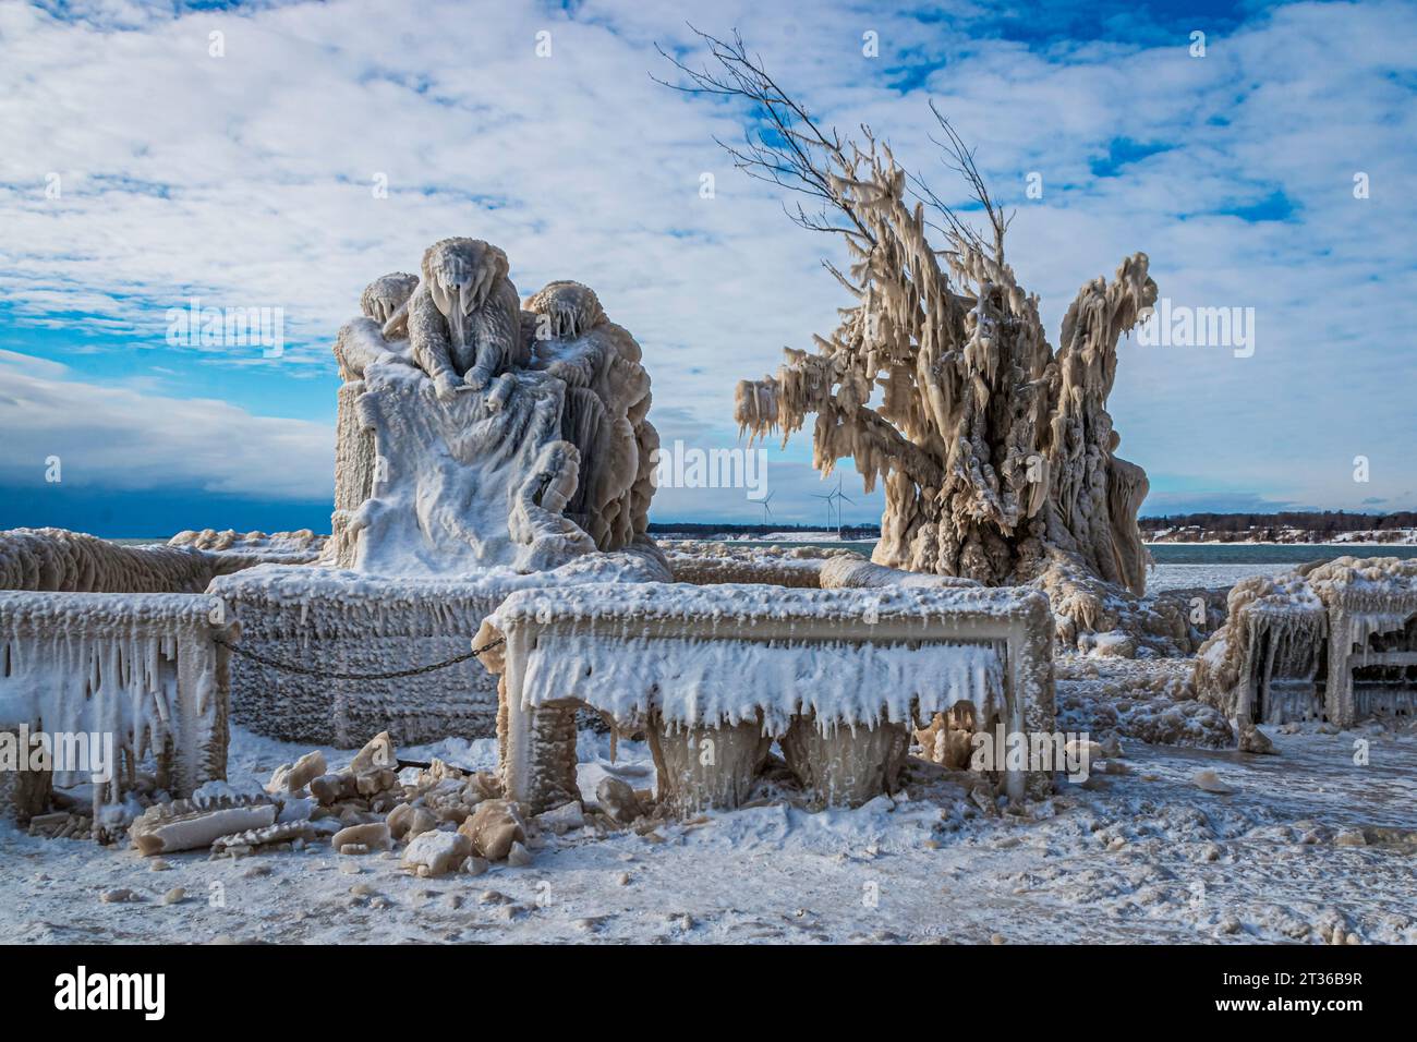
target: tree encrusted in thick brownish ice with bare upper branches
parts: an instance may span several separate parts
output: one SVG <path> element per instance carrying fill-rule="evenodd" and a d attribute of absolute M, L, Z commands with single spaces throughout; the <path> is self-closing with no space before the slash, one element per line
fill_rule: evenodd
<path fill-rule="evenodd" d="M 757 125 L 745 143 L 718 143 L 744 173 L 812 200 L 789 217 L 840 235 L 850 258 L 846 271 L 823 262 L 853 299 L 840 325 L 813 336 L 815 352 L 788 349 L 775 376 L 738 384 L 740 428 L 786 441 L 815 415 L 823 475 L 852 458 L 867 491 L 884 483 L 880 564 L 989 584 L 1080 564 L 1139 594 L 1146 475 L 1114 455 L 1105 405 L 1117 342 L 1156 299 L 1145 254 L 1081 288 L 1054 350 L 1037 296 L 1005 261 L 1009 217 L 934 103 L 932 140 L 988 238 L 869 126 L 845 139 L 819 125 L 737 33 L 699 35 L 710 58 L 700 68 L 660 51 L 683 75 L 667 85 L 747 101 Z"/>

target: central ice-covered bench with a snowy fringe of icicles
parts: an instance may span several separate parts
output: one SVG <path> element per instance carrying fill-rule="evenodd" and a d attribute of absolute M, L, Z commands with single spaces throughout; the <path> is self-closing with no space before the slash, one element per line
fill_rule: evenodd
<path fill-rule="evenodd" d="M 1036 591 L 527 590 L 476 641 L 497 635 L 506 646 L 482 661 L 502 672 L 503 778 L 537 808 L 574 795 L 578 705 L 645 726 L 660 797 L 686 809 L 735 805 L 774 739 L 809 787 L 859 802 L 891 787 L 911 724 L 956 702 L 985 724 L 1053 730 L 1051 615 Z M 1009 794 L 1026 781 L 1009 773 Z"/>

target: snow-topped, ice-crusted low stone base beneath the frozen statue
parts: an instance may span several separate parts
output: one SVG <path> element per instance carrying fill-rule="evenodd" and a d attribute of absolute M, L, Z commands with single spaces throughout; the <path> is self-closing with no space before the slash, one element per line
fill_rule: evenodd
<path fill-rule="evenodd" d="M 469 578 L 366 576 L 323 567 L 261 566 L 211 584 L 214 610 L 241 624 L 241 646 L 316 671 L 288 672 L 234 656 L 232 719 L 258 734 L 356 749 L 387 730 L 400 744 L 496 734 L 496 679 L 476 661 L 390 679 L 368 676 L 446 662 L 509 593 L 587 573 L 663 578 L 648 550 L 592 554 L 550 573 L 506 570 Z"/>

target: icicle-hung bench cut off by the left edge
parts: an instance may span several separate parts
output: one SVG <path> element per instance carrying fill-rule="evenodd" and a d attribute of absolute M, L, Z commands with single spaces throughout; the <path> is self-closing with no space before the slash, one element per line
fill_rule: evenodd
<path fill-rule="evenodd" d="M 146 757 L 162 788 L 186 795 L 225 777 L 227 651 L 215 641 L 234 632 L 196 594 L 0 591 L 0 723 L 111 734 L 123 763 L 109 764 L 95 802 L 116 800 Z M 60 784 L 89 781 L 89 764 L 72 767 Z"/>

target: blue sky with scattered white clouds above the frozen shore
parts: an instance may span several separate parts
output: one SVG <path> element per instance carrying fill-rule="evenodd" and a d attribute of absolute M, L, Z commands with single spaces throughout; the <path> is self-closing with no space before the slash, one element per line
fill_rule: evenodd
<path fill-rule="evenodd" d="M 594 286 L 663 439 L 740 444 L 734 383 L 846 301 L 836 244 L 713 143 L 743 111 L 652 81 L 656 43 L 693 57 L 686 11 L 959 200 L 935 99 L 1017 208 L 1054 343 L 1136 250 L 1173 305 L 1253 315 L 1247 357 L 1124 343 L 1111 411 L 1146 513 L 1417 508 L 1410 3 L 0 0 L 0 527 L 324 530 L 334 332 L 446 235 L 502 245 L 524 293 Z M 283 353 L 170 344 L 193 298 L 279 308 Z M 822 519 L 809 456 L 772 448 L 777 520 Z M 847 522 L 879 517 L 843 488 Z M 743 491 L 653 510 L 761 517 Z"/>

